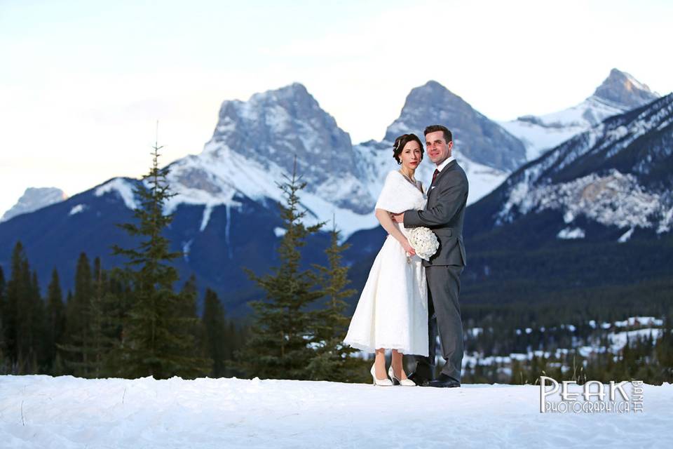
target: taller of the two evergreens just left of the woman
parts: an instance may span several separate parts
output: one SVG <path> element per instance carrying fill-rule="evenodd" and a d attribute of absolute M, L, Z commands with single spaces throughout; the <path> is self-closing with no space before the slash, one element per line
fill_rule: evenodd
<path fill-rule="evenodd" d="M 279 204 L 285 234 L 278 247 L 278 265 L 271 274 L 257 276 L 246 270 L 266 294 L 265 301 L 254 301 L 254 325 L 239 354 L 240 367 L 250 376 L 276 379 L 308 379 L 308 368 L 315 356 L 312 315 L 307 307 L 322 297 L 311 270 L 302 269 L 300 248 L 306 238 L 318 232 L 323 223 L 305 226 L 306 210 L 299 210 L 299 190 L 306 187 L 297 177 L 294 159 L 292 177 L 278 184 L 285 196 Z"/>

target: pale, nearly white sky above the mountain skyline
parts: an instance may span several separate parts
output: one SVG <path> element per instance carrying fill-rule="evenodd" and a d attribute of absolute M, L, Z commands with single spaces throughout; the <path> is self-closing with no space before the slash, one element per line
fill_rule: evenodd
<path fill-rule="evenodd" d="M 612 67 L 673 91 L 670 1 L 0 0 L 0 215 L 200 152 L 222 100 L 294 81 L 353 142 L 435 79 L 491 119 L 580 102 Z"/>

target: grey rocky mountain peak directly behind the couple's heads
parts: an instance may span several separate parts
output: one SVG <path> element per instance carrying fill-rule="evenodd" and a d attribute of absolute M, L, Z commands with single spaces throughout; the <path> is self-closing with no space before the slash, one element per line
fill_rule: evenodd
<path fill-rule="evenodd" d="M 454 135 L 456 153 L 476 163 L 514 170 L 526 160 L 522 142 L 437 81 L 412 89 L 383 140 L 393 142 L 404 133 L 416 133 L 422 139 L 423 129 L 434 124 L 447 126 Z"/>

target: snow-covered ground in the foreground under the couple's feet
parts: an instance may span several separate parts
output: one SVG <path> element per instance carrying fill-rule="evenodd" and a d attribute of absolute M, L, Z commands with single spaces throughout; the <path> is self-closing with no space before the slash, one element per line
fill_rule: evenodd
<path fill-rule="evenodd" d="M 539 413 L 539 387 L 0 376 L 2 448 L 669 448 L 673 385 L 644 412 Z"/>

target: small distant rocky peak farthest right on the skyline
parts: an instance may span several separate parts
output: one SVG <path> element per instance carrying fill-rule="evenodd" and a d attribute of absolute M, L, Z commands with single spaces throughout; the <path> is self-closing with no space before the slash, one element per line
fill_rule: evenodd
<path fill-rule="evenodd" d="M 656 100 L 659 95 L 626 72 L 612 69 L 609 76 L 601 83 L 593 95 L 606 100 L 623 110 L 633 109 Z"/>

